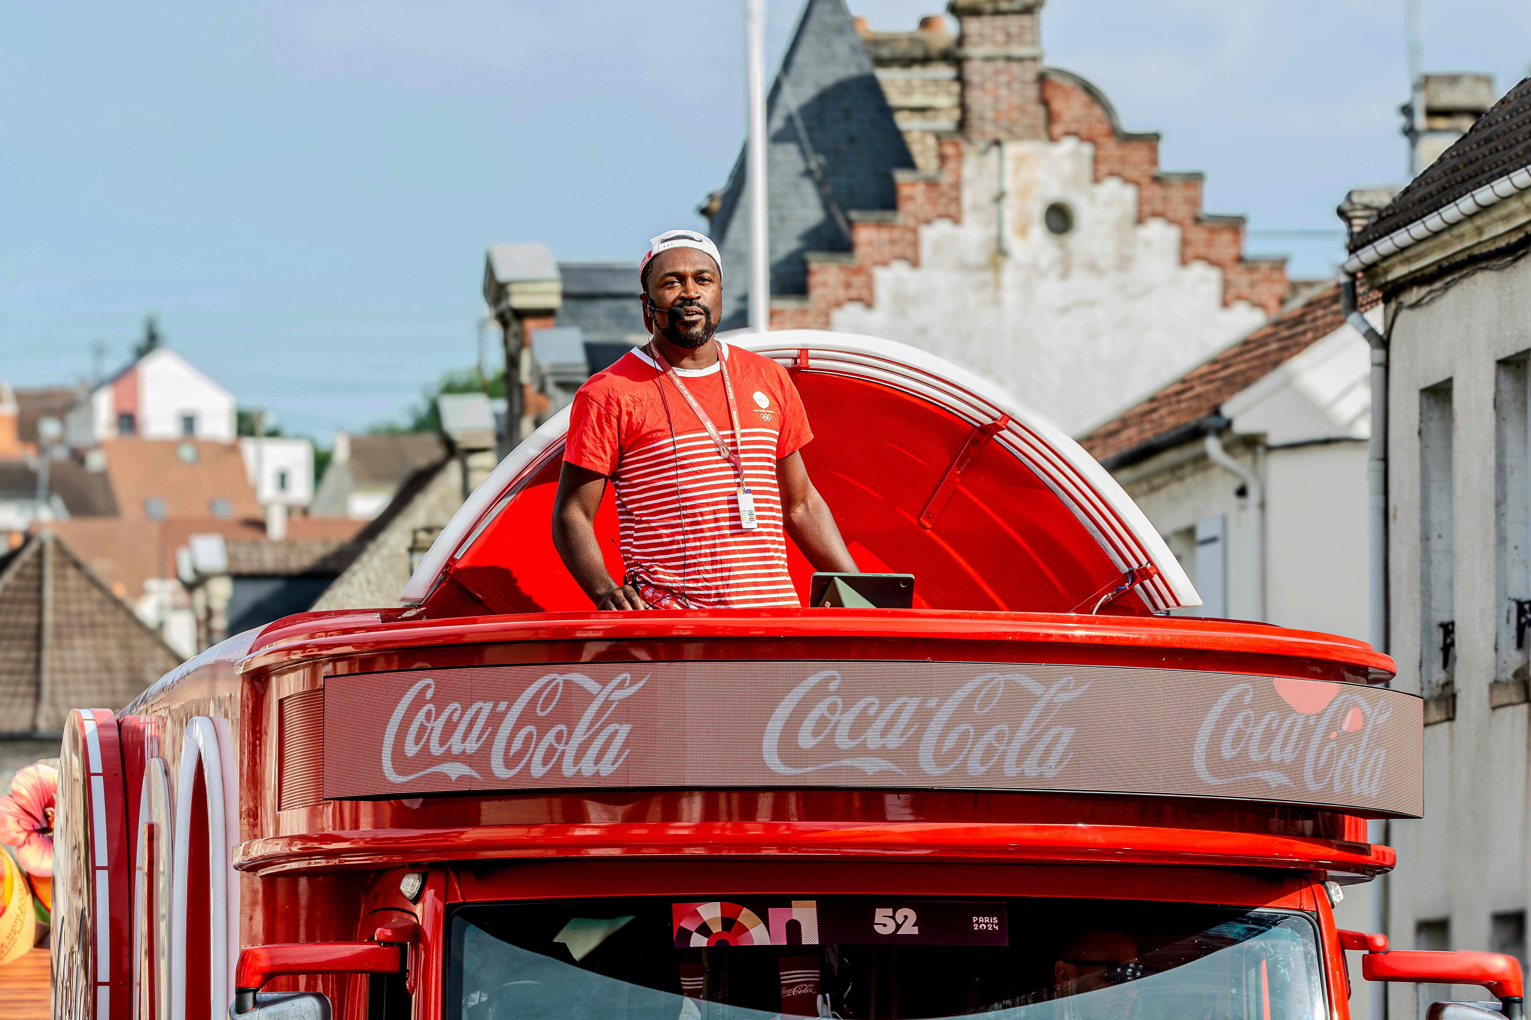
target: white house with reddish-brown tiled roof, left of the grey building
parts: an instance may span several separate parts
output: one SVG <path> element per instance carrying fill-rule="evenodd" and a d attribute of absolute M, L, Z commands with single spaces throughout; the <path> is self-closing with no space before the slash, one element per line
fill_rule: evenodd
<path fill-rule="evenodd" d="M 1196 581 L 1177 613 L 1367 639 L 1369 373 L 1332 284 L 1081 439 Z M 1347 888 L 1340 922 L 1369 930 L 1381 887 Z M 1352 1017 L 1378 988 L 1352 985 Z"/>

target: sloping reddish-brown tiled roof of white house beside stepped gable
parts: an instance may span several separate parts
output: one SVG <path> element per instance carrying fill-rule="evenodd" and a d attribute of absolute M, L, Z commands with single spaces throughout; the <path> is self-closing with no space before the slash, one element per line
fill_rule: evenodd
<path fill-rule="evenodd" d="M 1363 289 L 1363 310 L 1381 300 Z M 1340 284 L 1289 306 L 1278 317 L 1193 367 L 1141 404 L 1082 436 L 1079 445 L 1107 469 L 1144 460 L 1200 433 L 1223 401 L 1340 329 Z"/>

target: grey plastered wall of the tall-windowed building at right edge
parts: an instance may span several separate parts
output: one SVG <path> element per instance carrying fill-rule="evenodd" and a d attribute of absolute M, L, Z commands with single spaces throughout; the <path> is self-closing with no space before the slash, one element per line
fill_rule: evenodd
<path fill-rule="evenodd" d="M 1526 705 L 1490 707 L 1497 604 L 1494 378 L 1531 350 L 1531 261 L 1480 272 L 1392 329 L 1389 428 L 1389 587 L 1395 685 L 1419 691 L 1419 391 L 1451 379 L 1456 716 L 1425 726 L 1425 817 L 1390 823 L 1398 870 L 1389 882 L 1389 936 L 1413 948 L 1419 921 L 1450 921 L 1450 948 L 1490 950 L 1490 918 L 1526 910 Z M 1405 292 L 1404 301 L 1418 297 Z M 1436 655 L 1433 647 L 1427 648 Z M 1390 991 L 1395 1020 L 1412 1017 L 1412 986 Z M 1480 989 L 1458 988 L 1480 999 Z"/>

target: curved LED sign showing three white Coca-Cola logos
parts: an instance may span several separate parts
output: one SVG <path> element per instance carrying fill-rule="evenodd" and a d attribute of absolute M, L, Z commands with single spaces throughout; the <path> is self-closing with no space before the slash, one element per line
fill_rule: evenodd
<path fill-rule="evenodd" d="M 845 786 L 1424 812 L 1422 702 L 1237 673 L 646 662 L 325 682 L 325 797 Z"/>

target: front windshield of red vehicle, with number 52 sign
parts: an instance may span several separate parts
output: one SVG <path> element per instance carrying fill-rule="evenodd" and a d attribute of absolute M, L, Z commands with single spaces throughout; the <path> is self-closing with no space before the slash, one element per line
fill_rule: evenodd
<path fill-rule="evenodd" d="M 1297 913 L 1099 899 L 475 904 L 452 1020 L 1323 1020 Z"/>

